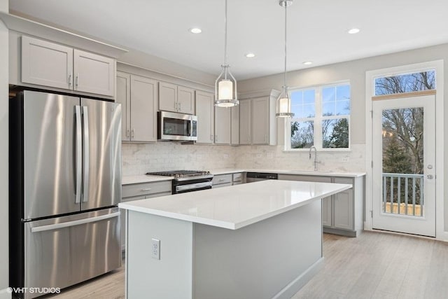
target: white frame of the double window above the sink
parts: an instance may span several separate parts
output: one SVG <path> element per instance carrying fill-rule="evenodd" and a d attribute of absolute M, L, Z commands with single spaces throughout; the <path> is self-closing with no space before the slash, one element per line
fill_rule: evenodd
<path fill-rule="evenodd" d="M 350 87 L 350 114 L 343 116 L 323 116 L 322 115 L 322 104 L 323 104 L 323 96 L 322 91 L 323 88 L 336 88 L 337 86 L 349 85 Z M 351 151 L 351 108 L 352 108 L 352 100 L 351 100 L 351 83 L 350 81 L 338 81 L 335 83 L 322 84 L 322 85 L 311 85 L 304 88 L 290 88 L 288 90 L 288 94 L 291 97 L 291 93 L 295 91 L 305 91 L 305 90 L 314 90 L 314 118 L 286 118 L 284 122 L 284 146 L 283 151 L 291 151 L 291 152 L 300 152 L 300 151 L 309 151 L 309 148 L 291 148 L 291 123 L 292 121 L 313 121 L 314 122 L 314 139 L 313 146 L 316 146 L 318 151 Z M 347 148 L 323 148 L 323 134 L 322 134 L 322 123 L 323 120 L 328 119 L 341 119 L 346 118 L 349 123 L 349 147 Z M 316 144 L 318 141 L 318 144 Z"/>

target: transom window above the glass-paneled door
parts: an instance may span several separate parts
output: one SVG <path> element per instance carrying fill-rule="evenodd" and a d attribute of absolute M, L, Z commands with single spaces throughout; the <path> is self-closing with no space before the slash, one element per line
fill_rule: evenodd
<path fill-rule="evenodd" d="M 375 78 L 374 95 L 393 95 L 418 90 L 435 90 L 435 70 Z"/>

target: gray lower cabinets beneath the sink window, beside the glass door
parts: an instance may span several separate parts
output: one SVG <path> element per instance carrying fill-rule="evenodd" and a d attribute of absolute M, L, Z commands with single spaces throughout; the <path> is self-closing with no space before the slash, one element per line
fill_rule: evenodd
<path fill-rule="evenodd" d="M 363 230 L 364 176 L 305 176 L 279 174 L 279 179 L 290 181 L 320 181 L 326 183 L 350 183 L 353 188 L 322 200 L 323 232 L 356 237 Z"/>

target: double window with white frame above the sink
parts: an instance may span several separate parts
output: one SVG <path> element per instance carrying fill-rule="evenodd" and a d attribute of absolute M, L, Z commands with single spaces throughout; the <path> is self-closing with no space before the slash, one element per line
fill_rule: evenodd
<path fill-rule="evenodd" d="M 323 85 L 290 90 L 291 111 L 286 150 L 349 148 L 350 85 Z"/>

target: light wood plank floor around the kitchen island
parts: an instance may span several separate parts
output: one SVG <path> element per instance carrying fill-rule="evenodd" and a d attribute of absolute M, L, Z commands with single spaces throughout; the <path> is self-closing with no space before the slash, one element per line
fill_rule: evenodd
<path fill-rule="evenodd" d="M 323 270 L 299 298 L 448 298 L 448 243 L 386 232 L 323 235 Z M 48 298 L 125 298 L 124 266 Z"/>

